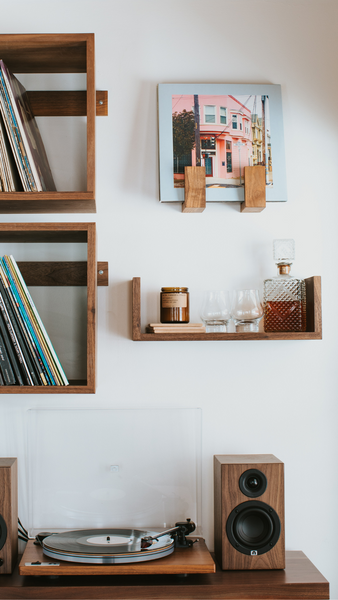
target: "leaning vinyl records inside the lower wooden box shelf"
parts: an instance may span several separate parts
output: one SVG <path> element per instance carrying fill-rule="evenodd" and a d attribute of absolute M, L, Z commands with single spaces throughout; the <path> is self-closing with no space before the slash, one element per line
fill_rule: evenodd
<path fill-rule="evenodd" d="M 69 385 L 13 256 L 0 258 L 0 385 Z"/>

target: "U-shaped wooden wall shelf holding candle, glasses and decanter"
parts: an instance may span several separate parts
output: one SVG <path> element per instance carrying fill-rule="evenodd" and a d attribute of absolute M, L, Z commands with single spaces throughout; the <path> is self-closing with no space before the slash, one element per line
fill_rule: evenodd
<path fill-rule="evenodd" d="M 249 341 L 249 340 L 321 340 L 322 305 L 321 278 L 305 279 L 307 331 L 259 333 L 143 333 L 141 329 L 141 278 L 132 280 L 132 339 L 134 342 L 193 342 L 193 341 Z"/>

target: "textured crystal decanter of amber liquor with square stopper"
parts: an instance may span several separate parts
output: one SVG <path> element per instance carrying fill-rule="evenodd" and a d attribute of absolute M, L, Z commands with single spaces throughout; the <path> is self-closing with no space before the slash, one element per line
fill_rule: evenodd
<path fill-rule="evenodd" d="M 274 240 L 278 274 L 264 281 L 264 330 L 306 331 L 305 281 L 290 275 L 294 240 Z"/>

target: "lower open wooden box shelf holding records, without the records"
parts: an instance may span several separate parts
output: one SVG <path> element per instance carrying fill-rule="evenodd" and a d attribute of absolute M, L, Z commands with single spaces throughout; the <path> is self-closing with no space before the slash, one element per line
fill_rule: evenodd
<path fill-rule="evenodd" d="M 0 242 L 87 244 L 87 261 L 18 261 L 28 286 L 87 287 L 86 379 L 68 386 L 0 386 L 0 394 L 94 394 L 96 286 L 108 285 L 108 263 L 96 262 L 95 223 L 0 223 Z"/>

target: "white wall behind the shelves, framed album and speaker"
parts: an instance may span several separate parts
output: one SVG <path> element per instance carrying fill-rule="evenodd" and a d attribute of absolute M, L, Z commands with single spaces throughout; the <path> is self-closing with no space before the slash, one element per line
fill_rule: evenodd
<path fill-rule="evenodd" d="M 213 455 L 274 453 L 285 462 L 287 549 L 303 550 L 338 598 L 337 2 L 0 0 L 0 9 L 1 33 L 94 32 L 96 87 L 109 91 L 109 116 L 97 119 L 97 214 L 2 218 L 95 220 L 98 259 L 110 264 L 110 287 L 98 293 L 96 395 L 1 396 L 1 419 L 14 431 L 29 406 L 201 407 L 209 547 Z M 160 82 L 281 84 L 288 202 L 260 214 L 219 204 L 189 215 L 161 205 Z M 276 237 L 295 238 L 295 273 L 322 275 L 322 341 L 131 341 L 133 276 L 142 277 L 145 324 L 158 317 L 162 285 L 178 282 L 192 295 L 262 287 L 274 273 Z"/>

